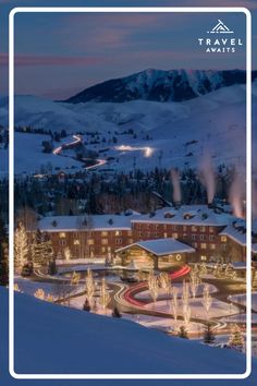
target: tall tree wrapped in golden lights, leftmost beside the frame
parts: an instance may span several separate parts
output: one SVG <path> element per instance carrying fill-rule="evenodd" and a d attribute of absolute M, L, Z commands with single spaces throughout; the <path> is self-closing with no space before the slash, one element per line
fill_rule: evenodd
<path fill-rule="evenodd" d="M 23 222 L 20 222 L 14 234 L 14 269 L 16 273 L 21 273 L 23 266 L 27 263 L 27 233 Z"/>

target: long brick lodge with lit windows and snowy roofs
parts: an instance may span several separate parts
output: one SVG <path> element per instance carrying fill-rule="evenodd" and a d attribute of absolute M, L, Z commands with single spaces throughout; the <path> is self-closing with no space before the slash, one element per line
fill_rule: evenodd
<path fill-rule="evenodd" d="M 245 262 L 244 221 L 206 205 L 164 207 L 152 214 L 53 216 L 39 220 L 48 232 L 58 260 L 119 257 L 122 249 L 150 240 L 180 242 L 191 262 Z M 164 241 L 162 241 L 164 244 Z M 176 245 L 178 246 L 178 245 Z M 180 255 L 180 248 L 166 256 Z"/>

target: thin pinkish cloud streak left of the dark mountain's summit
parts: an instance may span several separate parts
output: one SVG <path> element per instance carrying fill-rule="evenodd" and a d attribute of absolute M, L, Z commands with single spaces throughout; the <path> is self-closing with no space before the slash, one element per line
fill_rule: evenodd
<path fill-rule="evenodd" d="M 91 65 L 102 62 L 99 57 L 60 57 L 60 56 L 36 56 L 36 55 L 15 55 L 15 65 Z M 0 55 L 0 64 L 8 65 L 8 53 Z"/>

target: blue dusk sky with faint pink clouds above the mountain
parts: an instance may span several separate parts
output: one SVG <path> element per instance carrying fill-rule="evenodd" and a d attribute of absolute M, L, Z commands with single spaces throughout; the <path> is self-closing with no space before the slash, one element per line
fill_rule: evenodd
<path fill-rule="evenodd" d="M 15 5 L 39 4 L 32 0 L 1 0 L 0 3 L 3 3 L 2 9 L 9 7 L 9 10 Z M 107 5 L 106 1 L 100 3 Z M 171 1 L 161 3 L 192 5 L 188 0 L 176 4 Z M 211 1 L 204 3 L 211 4 Z M 254 14 L 257 12 L 257 1 L 215 1 L 215 5 L 219 3 L 246 5 Z M 88 3 L 93 4 L 95 2 Z M 108 4 L 126 5 L 127 2 Z M 135 2 L 130 4 L 135 5 Z M 144 4 L 157 5 L 154 1 Z M 49 2 L 44 1 L 44 5 Z M 57 1 L 51 5 L 57 5 Z M 85 5 L 85 1 L 58 1 L 58 5 Z M 203 1 L 195 5 L 203 5 Z M 198 46 L 198 37 L 208 37 L 207 31 L 217 24 L 218 19 L 234 31 L 233 37 L 241 37 L 245 43 L 245 15 L 242 13 L 20 13 L 15 16 L 15 93 L 65 98 L 98 82 L 149 68 L 244 69 L 245 46 L 230 55 L 206 53 Z M 1 65 L 5 73 L 7 39 L 2 47 Z M 3 92 L 7 85 L 4 76 Z"/>

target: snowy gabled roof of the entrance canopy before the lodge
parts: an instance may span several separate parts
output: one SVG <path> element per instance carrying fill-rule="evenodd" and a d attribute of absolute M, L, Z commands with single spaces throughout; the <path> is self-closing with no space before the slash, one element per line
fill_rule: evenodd
<path fill-rule="evenodd" d="M 139 246 L 150 253 L 154 253 L 156 256 L 164 256 L 172 253 L 192 253 L 195 252 L 195 249 L 184 244 L 175 239 L 156 239 L 147 241 L 138 241 L 131 245 L 123 246 L 115 252 L 121 252 L 127 250 L 132 246 Z"/>

